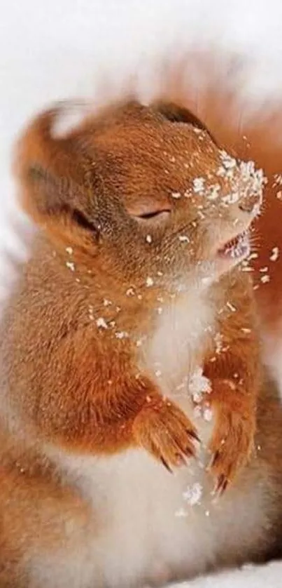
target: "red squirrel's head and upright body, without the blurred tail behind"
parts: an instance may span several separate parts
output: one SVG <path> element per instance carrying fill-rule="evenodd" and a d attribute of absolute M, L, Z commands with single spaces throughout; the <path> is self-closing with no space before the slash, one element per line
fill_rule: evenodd
<path fill-rule="evenodd" d="M 244 260 L 262 171 L 171 102 L 17 146 L 38 225 L 1 321 L 0 585 L 141 588 L 281 542 L 282 415 Z"/>

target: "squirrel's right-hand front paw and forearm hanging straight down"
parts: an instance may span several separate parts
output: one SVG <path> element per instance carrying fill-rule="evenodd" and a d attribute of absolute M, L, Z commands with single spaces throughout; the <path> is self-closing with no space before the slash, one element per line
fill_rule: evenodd
<path fill-rule="evenodd" d="M 209 443 L 209 469 L 216 479 L 215 491 L 222 494 L 248 462 L 255 436 L 255 408 L 233 382 L 220 380 L 213 390 L 216 424 Z"/>

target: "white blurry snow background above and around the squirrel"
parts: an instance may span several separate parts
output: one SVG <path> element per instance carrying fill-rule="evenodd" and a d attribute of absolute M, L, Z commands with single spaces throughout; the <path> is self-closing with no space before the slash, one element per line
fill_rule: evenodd
<path fill-rule="evenodd" d="M 0 20 L 0 298 L 22 258 L 26 220 L 15 206 L 13 141 L 28 117 L 59 98 L 98 100 L 134 74 L 150 93 L 155 67 L 196 46 L 243 58 L 244 99 L 282 98 L 281 0 L 9 0 Z M 190 582 L 190 588 L 279 588 L 282 563 Z"/>

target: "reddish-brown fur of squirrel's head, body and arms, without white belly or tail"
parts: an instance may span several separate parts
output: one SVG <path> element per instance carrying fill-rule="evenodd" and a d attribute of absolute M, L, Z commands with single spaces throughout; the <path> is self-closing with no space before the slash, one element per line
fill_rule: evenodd
<path fill-rule="evenodd" d="M 199 365 L 211 382 L 194 399 L 215 415 L 205 475 L 223 505 L 232 493 L 244 500 L 245 484 L 246 494 L 263 485 L 268 521 L 258 522 L 244 554 L 239 545 L 233 554 L 222 549 L 197 571 L 264 559 L 281 530 L 281 412 L 262 377 L 248 272 L 219 253 L 253 221 L 260 201 L 253 176 L 244 177 L 238 161 L 231 179 L 226 169 L 218 174 L 218 127 L 207 116 L 209 133 L 165 100 L 110 107 L 56 137 L 59 113 L 34 119 L 17 149 L 22 205 L 40 229 L 2 323 L 0 584 L 45 588 L 31 580 L 38 553 L 56 553 L 57 542 L 76 552 L 93 535 L 87 517 L 97 517 L 97 529 L 106 524 L 101 512 L 90 514 L 50 448 L 100 460 L 135 448 L 169 470 L 194 459 L 202 439 L 192 413 L 165 394 L 146 359 L 159 315 L 193 288 L 213 314 L 187 364 L 188 376 Z M 195 188 L 203 177 L 207 188 L 218 186 L 216 201 Z M 230 192 L 238 199 L 226 201 Z M 172 579 L 192 574 L 181 569 L 170 570 Z M 125 586 L 107 584 L 104 573 L 75 585 Z"/>

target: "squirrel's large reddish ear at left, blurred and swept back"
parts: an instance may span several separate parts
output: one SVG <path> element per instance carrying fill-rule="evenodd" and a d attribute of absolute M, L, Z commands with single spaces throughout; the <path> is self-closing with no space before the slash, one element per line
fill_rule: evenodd
<path fill-rule="evenodd" d="M 20 138 L 15 154 L 15 175 L 20 182 L 22 208 L 45 229 L 97 233 L 94 214 L 93 166 L 79 133 L 54 133 L 64 114 L 59 105 L 38 115 Z M 80 237 L 82 234 L 80 234 Z"/>

